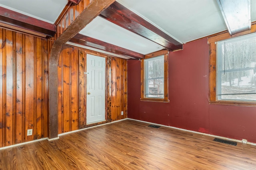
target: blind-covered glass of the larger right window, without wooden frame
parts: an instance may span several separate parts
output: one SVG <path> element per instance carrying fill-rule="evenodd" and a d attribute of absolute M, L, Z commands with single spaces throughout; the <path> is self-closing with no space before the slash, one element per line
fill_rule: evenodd
<path fill-rule="evenodd" d="M 256 101 L 256 34 L 217 42 L 217 100 Z"/>

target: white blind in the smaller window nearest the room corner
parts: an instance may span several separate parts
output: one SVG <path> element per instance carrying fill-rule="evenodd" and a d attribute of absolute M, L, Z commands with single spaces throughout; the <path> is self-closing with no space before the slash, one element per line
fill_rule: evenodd
<path fill-rule="evenodd" d="M 164 55 L 144 60 L 146 98 L 164 98 Z"/>

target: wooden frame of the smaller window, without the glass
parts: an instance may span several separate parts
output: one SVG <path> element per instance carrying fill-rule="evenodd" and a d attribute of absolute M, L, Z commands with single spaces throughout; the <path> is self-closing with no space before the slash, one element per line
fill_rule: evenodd
<path fill-rule="evenodd" d="M 154 53 L 150 53 L 145 55 L 144 59 L 150 59 L 152 57 L 160 57 L 164 55 L 164 98 L 148 98 L 144 94 L 145 91 L 145 76 L 144 76 L 144 59 L 141 59 L 141 69 L 140 69 L 140 84 L 141 84 L 141 91 L 140 91 L 140 100 L 141 101 L 148 101 L 148 102 L 165 102 L 169 103 L 168 98 L 168 50 L 161 50 Z"/>

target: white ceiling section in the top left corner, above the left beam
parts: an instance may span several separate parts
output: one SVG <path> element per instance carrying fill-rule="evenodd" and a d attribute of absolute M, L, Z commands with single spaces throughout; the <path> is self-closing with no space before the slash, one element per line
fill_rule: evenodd
<path fill-rule="evenodd" d="M 31 16 L 38 20 L 54 23 L 68 0 L 0 0 L 0 6 Z"/>

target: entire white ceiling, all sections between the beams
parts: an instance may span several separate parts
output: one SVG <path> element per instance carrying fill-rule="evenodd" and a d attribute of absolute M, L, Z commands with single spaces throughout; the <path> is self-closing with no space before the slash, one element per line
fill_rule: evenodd
<path fill-rule="evenodd" d="M 216 0 L 116 0 L 162 31 L 187 43 L 227 30 Z M 0 6 L 54 23 L 68 0 L 0 0 Z M 251 0 L 251 21 L 256 21 L 256 0 Z M 163 49 L 100 17 L 81 34 L 142 54 Z"/>

